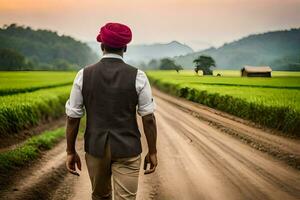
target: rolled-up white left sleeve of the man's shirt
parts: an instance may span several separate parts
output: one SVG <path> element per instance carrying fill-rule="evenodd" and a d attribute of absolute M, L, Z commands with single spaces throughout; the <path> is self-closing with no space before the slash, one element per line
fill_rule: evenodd
<path fill-rule="evenodd" d="M 66 114 L 72 118 L 81 118 L 85 114 L 82 97 L 83 69 L 81 69 L 73 82 L 70 98 L 66 102 Z"/>

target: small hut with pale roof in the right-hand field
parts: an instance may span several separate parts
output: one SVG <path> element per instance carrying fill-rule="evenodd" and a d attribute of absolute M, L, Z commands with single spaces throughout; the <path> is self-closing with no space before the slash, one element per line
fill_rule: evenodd
<path fill-rule="evenodd" d="M 241 75 L 247 77 L 271 77 L 272 69 L 269 66 L 245 66 Z"/>

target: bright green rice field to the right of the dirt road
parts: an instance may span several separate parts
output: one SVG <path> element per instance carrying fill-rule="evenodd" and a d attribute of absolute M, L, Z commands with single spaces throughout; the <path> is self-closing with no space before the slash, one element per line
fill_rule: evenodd
<path fill-rule="evenodd" d="M 299 77 L 202 77 L 191 71 L 147 74 L 165 92 L 300 136 Z"/>

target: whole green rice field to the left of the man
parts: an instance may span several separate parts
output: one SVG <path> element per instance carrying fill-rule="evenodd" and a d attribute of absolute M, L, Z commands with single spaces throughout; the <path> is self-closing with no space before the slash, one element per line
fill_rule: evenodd
<path fill-rule="evenodd" d="M 64 114 L 76 72 L 0 72 L 0 135 Z"/>

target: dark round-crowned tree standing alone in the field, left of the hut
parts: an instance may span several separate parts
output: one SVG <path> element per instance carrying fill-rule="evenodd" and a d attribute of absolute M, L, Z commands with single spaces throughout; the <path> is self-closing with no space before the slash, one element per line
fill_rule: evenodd
<path fill-rule="evenodd" d="M 195 72 L 197 74 L 199 70 L 202 70 L 203 75 L 212 75 L 210 67 L 216 66 L 214 59 L 210 56 L 200 55 L 193 62 L 195 63 Z"/>

